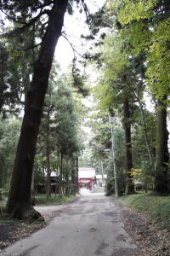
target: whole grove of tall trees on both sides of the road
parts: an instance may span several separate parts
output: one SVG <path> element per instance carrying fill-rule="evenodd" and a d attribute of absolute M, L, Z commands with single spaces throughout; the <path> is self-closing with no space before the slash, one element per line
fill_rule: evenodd
<path fill-rule="evenodd" d="M 82 49 L 65 15 L 86 16 Z M 79 166 L 107 174 L 107 195 L 170 194 L 168 0 L 97 11 L 85 0 L 3 0 L 0 32 L 0 196 L 11 218 L 42 219 L 39 193 L 76 195 Z M 67 71 L 59 37 L 73 51 Z"/>

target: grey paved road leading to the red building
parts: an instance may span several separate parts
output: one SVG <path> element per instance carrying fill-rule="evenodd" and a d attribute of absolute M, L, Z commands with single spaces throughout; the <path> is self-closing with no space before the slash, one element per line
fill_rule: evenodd
<path fill-rule="evenodd" d="M 39 207 L 41 211 L 43 208 Z M 129 256 L 137 250 L 114 203 L 102 193 L 56 206 L 56 218 L 31 237 L 7 247 L 10 256 Z"/>

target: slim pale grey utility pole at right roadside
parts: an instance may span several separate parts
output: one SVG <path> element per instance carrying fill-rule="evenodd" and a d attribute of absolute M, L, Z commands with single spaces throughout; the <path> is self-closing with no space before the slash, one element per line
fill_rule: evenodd
<path fill-rule="evenodd" d="M 111 124 L 111 151 L 112 151 L 112 158 L 113 158 L 113 171 L 115 177 L 115 197 L 118 198 L 118 187 L 117 187 L 117 175 L 116 175 L 116 161 L 115 161 L 115 137 L 114 137 L 114 125 L 113 125 L 113 118 L 109 118 L 109 122 Z"/>

